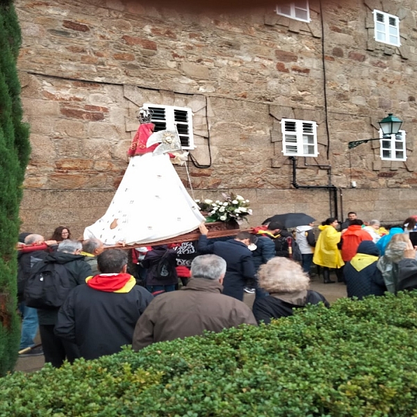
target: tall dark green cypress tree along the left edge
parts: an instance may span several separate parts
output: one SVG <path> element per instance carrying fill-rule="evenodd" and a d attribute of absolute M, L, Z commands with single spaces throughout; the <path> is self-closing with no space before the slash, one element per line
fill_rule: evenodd
<path fill-rule="evenodd" d="M 30 154 L 17 77 L 20 43 L 13 1 L 0 0 L 0 375 L 13 370 L 20 338 L 15 246 L 22 183 Z"/>

